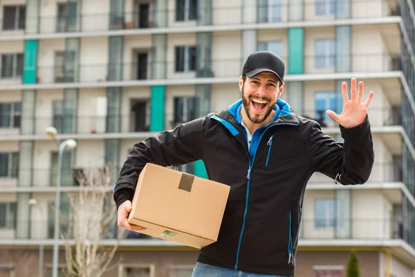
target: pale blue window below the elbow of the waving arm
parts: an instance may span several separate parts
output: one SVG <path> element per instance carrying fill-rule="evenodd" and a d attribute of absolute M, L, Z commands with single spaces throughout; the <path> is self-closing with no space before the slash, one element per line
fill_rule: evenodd
<path fill-rule="evenodd" d="M 315 199 L 314 226 L 316 229 L 333 228 L 335 226 L 334 208 L 334 199 Z"/>

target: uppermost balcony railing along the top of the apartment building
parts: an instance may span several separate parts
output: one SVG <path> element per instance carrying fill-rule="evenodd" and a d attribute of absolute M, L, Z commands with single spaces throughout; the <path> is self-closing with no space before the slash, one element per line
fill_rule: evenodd
<path fill-rule="evenodd" d="M 350 3 L 349 3 L 350 2 Z M 42 17 L 28 17 L 26 19 L 26 33 L 93 33 L 104 30 L 131 30 L 147 28 L 163 28 L 179 26 L 232 26 L 243 23 L 275 24 L 292 21 L 321 21 L 331 19 L 366 19 L 400 15 L 399 1 L 396 0 L 352 0 L 348 3 L 328 0 L 322 3 L 304 1 L 304 3 L 276 3 L 266 6 L 229 6 L 225 2 L 220 6 L 208 9 L 183 10 L 177 12 L 175 8 L 158 10 L 150 4 L 147 15 L 138 15 L 138 12 L 122 13 L 82 13 L 71 17 L 57 17 L 42 15 Z M 150 13 L 150 11 L 153 11 Z M 199 17 L 198 15 L 212 15 Z M 0 18 L 0 30 L 3 29 L 3 19 Z M 18 30 L 18 26 L 15 28 Z"/>

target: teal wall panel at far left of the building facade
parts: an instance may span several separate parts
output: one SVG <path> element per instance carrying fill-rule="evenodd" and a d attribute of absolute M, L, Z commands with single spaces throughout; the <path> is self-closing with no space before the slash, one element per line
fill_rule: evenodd
<path fill-rule="evenodd" d="M 36 83 L 37 69 L 37 40 L 26 40 L 24 42 L 24 71 L 23 83 Z"/>

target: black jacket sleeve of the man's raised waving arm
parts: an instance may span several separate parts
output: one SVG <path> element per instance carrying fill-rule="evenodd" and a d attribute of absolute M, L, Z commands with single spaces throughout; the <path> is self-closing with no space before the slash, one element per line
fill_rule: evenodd
<path fill-rule="evenodd" d="M 313 121 L 308 138 L 312 170 L 343 185 L 364 184 L 369 179 L 375 157 L 368 116 L 356 127 L 340 126 L 340 132 L 344 143 L 324 134 L 320 125 Z"/>

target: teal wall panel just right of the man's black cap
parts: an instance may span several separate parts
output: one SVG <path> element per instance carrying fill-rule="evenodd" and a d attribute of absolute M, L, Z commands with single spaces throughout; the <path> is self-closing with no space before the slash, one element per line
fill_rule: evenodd
<path fill-rule="evenodd" d="M 288 74 L 304 73 L 304 28 L 288 29 Z"/>

